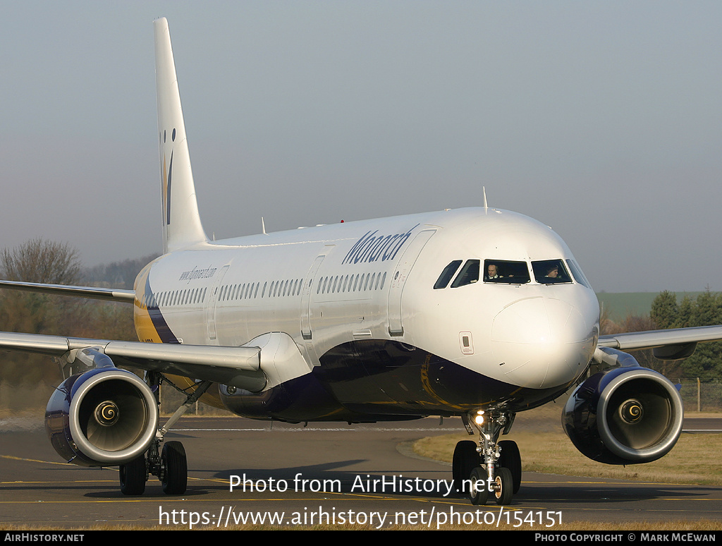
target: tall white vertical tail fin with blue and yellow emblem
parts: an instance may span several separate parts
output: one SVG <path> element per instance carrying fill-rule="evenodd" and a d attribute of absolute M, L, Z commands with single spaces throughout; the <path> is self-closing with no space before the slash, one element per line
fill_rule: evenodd
<path fill-rule="evenodd" d="M 208 238 L 198 212 L 168 21 L 163 17 L 155 20 L 153 26 L 165 253 Z"/>

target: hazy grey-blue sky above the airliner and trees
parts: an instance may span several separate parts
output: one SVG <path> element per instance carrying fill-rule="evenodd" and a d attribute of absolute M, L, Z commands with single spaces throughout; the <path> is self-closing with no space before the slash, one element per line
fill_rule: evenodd
<path fill-rule="evenodd" d="M 0 248 L 160 250 L 152 20 L 216 238 L 482 204 L 722 290 L 718 1 L 0 1 Z"/>

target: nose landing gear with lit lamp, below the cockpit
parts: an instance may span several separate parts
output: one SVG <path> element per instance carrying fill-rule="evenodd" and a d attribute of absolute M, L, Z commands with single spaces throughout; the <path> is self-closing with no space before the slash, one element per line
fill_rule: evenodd
<path fill-rule="evenodd" d="M 456 444 L 453 453 L 453 480 L 457 491 L 469 493 L 471 503 L 484 505 L 491 496 L 504 505 L 521 485 L 521 456 L 516 442 L 497 442 L 508 433 L 514 414 L 469 412 L 463 416 L 469 434 L 479 433 L 479 442 Z"/>

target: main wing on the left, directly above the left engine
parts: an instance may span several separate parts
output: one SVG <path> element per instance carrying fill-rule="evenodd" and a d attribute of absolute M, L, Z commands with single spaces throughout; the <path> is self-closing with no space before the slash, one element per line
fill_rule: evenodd
<path fill-rule="evenodd" d="M 0 332 L 0 350 L 35 352 L 71 362 L 75 351 L 88 347 L 108 355 L 113 363 L 214 381 L 242 389 L 262 389 L 260 347 L 218 347 L 170 343 L 123 342 L 110 339 L 46 336 Z"/>

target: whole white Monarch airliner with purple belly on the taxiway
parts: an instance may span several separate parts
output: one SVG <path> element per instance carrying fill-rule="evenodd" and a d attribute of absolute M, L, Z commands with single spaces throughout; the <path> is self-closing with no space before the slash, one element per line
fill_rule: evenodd
<path fill-rule="evenodd" d="M 372 423 L 460 416 L 452 478 L 472 503 L 511 501 L 518 412 L 576 387 L 562 425 L 606 464 L 650 462 L 682 430 L 678 386 L 625 352 L 692 354 L 722 326 L 606 336 L 599 303 L 559 235 L 488 207 L 210 240 L 196 203 L 168 22 L 155 25 L 163 254 L 133 290 L 2 281 L 0 287 L 133 303 L 139 342 L 0 333 L 52 355 L 64 382 L 45 428 L 67 462 L 150 475 L 186 491 L 183 444 L 164 441 L 201 399 L 243 417 Z M 121 368 L 145 371 L 144 377 Z M 160 425 L 159 387 L 186 394 Z"/>

